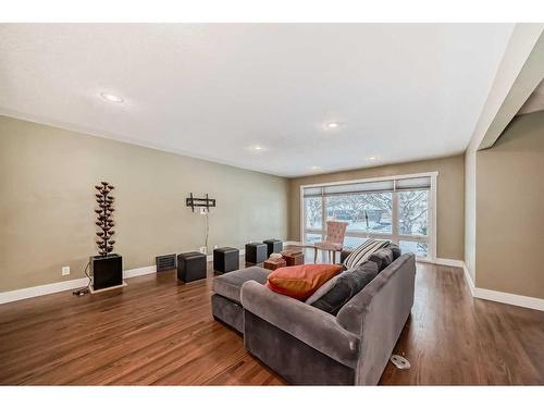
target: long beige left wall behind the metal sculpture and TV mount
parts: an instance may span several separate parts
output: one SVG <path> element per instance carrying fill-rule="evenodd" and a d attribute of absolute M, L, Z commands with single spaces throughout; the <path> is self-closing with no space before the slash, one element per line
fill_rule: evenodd
<path fill-rule="evenodd" d="M 287 235 L 285 178 L 0 116 L 0 292 L 84 277 L 101 180 L 116 187 L 124 269 L 203 246 L 190 191 L 218 200 L 209 248 Z"/>

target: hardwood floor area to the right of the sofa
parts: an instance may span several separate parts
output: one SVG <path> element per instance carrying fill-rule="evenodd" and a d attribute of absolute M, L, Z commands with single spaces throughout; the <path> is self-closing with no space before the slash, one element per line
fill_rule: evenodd
<path fill-rule="evenodd" d="M 459 268 L 420 263 L 416 300 L 382 384 L 544 384 L 544 312 L 473 299 Z"/>

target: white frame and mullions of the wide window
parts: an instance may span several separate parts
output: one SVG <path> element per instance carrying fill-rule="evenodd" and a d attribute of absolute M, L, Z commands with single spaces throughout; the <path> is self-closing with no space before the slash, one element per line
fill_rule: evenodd
<path fill-rule="evenodd" d="M 331 183 L 317 183 L 317 184 L 305 184 L 300 186 L 300 240 L 305 242 L 306 233 L 321 234 L 322 239 L 325 238 L 326 233 L 326 209 L 325 209 L 325 196 L 321 196 L 321 214 L 322 214 L 322 230 L 311 230 L 306 228 L 306 213 L 305 213 L 305 198 L 304 189 L 308 187 L 326 187 L 343 184 L 355 184 L 355 183 L 369 183 L 369 182 L 383 182 L 390 180 L 403 180 L 403 178 L 416 178 L 416 177 L 430 177 L 431 188 L 429 190 L 429 234 L 426 236 L 418 235 L 401 235 L 398 234 L 397 223 L 392 222 L 392 233 L 367 233 L 367 232 L 346 232 L 346 236 L 360 237 L 360 238 L 388 238 L 394 243 L 399 240 L 410 240 L 410 242 L 426 242 L 429 245 L 426 257 L 417 257 L 419 261 L 435 262 L 436 261 L 436 187 L 438 172 L 428 172 L 428 173 L 416 173 L 416 174 L 399 174 L 385 177 L 371 177 L 371 178 L 357 178 L 357 180 L 346 180 L 343 182 L 331 182 Z M 392 221 L 397 220 L 398 217 L 396 212 L 398 211 L 398 194 L 393 193 L 393 206 L 392 206 Z"/>

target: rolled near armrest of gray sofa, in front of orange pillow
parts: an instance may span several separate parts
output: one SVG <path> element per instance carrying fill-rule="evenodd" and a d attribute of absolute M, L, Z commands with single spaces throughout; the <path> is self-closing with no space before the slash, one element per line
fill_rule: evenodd
<path fill-rule="evenodd" d="M 254 281 L 242 286 L 242 305 L 332 359 L 351 368 L 357 366 L 359 338 L 342 327 L 334 316 Z"/>

